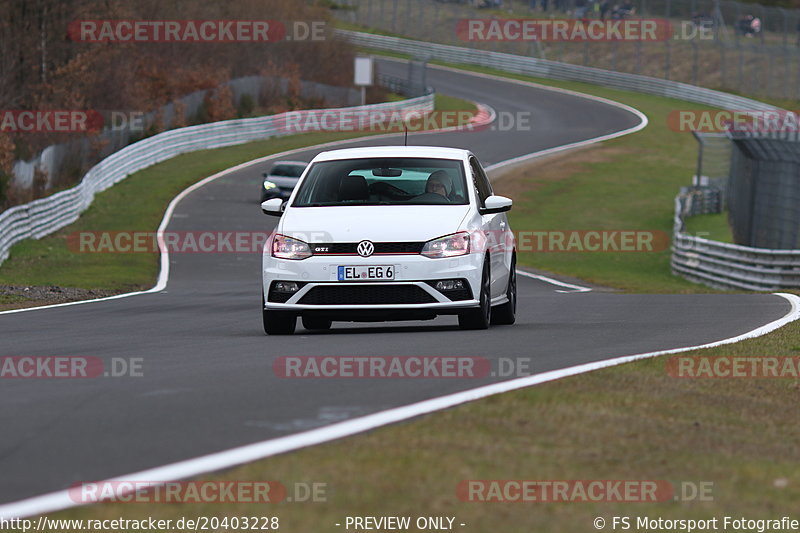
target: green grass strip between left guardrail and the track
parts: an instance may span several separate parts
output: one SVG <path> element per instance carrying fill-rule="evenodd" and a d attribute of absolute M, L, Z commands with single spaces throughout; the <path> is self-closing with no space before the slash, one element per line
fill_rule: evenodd
<path fill-rule="evenodd" d="M 435 107 L 476 111 L 470 102 L 439 94 Z M 40 240 L 28 239 L 12 247 L 9 259 L 0 266 L 0 284 L 119 292 L 149 288 L 158 275 L 157 254 L 76 253 L 68 246 L 68 236 L 82 231 L 155 231 L 172 198 L 207 176 L 258 157 L 362 135 L 365 134 L 310 133 L 278 137 L 192 152 L 153 165 L 98 194 L 75 223 Z"/>

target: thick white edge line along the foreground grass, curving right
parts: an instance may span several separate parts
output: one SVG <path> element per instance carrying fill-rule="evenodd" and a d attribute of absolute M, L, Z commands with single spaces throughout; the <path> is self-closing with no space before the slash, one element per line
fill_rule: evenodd
<path fill-rule="evenodd" d="M 330 442 L 332 440 L 363 433 L 371 429 L 376 429 L 387 424 L 408 420 L 421 415 L 433 413 L 435 411 L 440 411 L 442 409 L 447 409 L 467 402 L 486 398 L 488 396 L 530 387 L 532 385 L 539 385 L 541 383 L 555 381 L 565 377 L 575 376 L 602 368 L 609 368 L 640 359 L 648 359 L 657 357 L 659 355 L 674 354 L 690 350 L 713 348 L 716 346 L 722 346 L 724 344 L 739 342 L 745 339 L 760 337 L 790 322 L 800 319 L 799 296 L 784 293 L 773 294 L 775 296 L 782 297 L 789 302 L 789 312 L 773 322 L 770 322 L 764 326 L 760 326 L 747 333 L 737 335 L 736 337 L 697 346 L 687 346 L 684 348 L 674 348 L 671 350 L 661 350 L 656 352 L 616 357 L 602 361 L 594 361 L 591 363 L 584 363 L 559 370 L 551 370 L 541 374 L 517 378 L 501 383 L 493 383 L 491 385 L 485 385 L 475 389 L 448 394 L 429 400 L 423 400 L 410 405 L 388 409 L 379 413 L 346 420 L 344 422 L 331 424 L 310 431 L 304 431 L 302 433 L 296 433 L 286 437 L 278 437 L 276 439 L 270 439 L 267 441 L 231 448 L 229 450 L 217 453 L 211 453 L 201 457 L 196 457 L 194 459 L 187 459 L 148 470 L 142 470 L 133 474 L 116 477 L 108 481 L 144 481 L 157 484 L 175 479 L 184 479 L 207 472 L 231 468 L 251 461 L 272 457 L 281 453 L 295 451 L 308 446 Z M 0 505 L 0 519 L 17 518 L 54 512 L 79 505 L 81 505 L 81 503 L 75 502 L 70 497 L 69 490 L 60 490 L 51 492 L 49 494 L 44 494 L 42 496 L 35 496 L 25 500 L 20 500 L 18 502 Z"/>

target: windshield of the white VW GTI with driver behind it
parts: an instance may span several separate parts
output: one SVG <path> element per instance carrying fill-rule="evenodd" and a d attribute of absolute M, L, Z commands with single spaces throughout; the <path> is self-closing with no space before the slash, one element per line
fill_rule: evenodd
<path fill-rule="evenodd" d="M 314 163 L 292 207 L 345 205 L 463 205 L 461 161 L 368 158 Z"/>

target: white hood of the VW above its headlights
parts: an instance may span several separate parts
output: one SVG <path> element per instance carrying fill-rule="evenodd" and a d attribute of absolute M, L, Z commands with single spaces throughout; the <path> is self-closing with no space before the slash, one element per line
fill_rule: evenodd
<path fill-rule="evenodd" d="M 455 233 L 469 205 L 290 207 L 278 232 L 307 242 L 423 242 Z"/>

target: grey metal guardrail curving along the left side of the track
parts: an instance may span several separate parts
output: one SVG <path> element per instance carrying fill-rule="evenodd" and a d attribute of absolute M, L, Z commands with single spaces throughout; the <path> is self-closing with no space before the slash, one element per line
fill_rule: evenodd
<path fill-rule="evenodd" d="M 348 120 L 348 116 L 352 119 L 358 111 L 427 113 L 433 111 L 433 105 L 434 95 L 428 94 L 400 102 L 329 109 L 325 127 L 335 128 L 331 121 L 339 116 L 337 111 L 343 111 L 342 118 Z M 297 111 L 291 113 L 297 118 Z M 95 194 L 128 175 L 187 152 L 290 135 L 295 131 L 286 127 L 287 116 L 287 113 L 282 113 L 169 130 L 122 148 L 92 167 L 77 186 L 0 213 L 0 263 L 8 258 L 9 250 L 15 243 L 28 238 L 41 238 L 74 222 L 89 207 Z M 313 131 L 313 124 L 304 124 L 303 131 Z"/>

